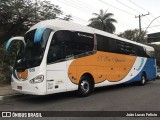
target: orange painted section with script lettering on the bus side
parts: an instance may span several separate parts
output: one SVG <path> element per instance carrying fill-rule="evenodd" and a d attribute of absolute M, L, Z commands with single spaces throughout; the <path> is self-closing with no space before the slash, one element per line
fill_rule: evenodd
<path fill-rule="evenodd" d="M 75 84 L 79 83 L 81 76 L 90 73 L 95 84 L 108 80 L 117 82 L 123 80 L 135 63 L 135 56 L 120 55 L 107 52 L 97 52 L 94 55 L 74 60 L 68 70 L 69 78 Z M 75 73 L 74 67 L 77 69 Z"/>

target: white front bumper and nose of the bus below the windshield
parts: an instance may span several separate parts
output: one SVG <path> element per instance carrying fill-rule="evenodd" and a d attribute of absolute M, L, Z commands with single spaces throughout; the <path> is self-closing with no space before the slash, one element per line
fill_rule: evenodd
<path fill-rule="evenodd" d="M 11 87 L 14 91 L 24 93 L 24 94 L 33 94 L 33 95 L 45 95 L 46 94 L 46 72 L 40 67 L 30 68 L 25 70 L 28 71 L 27 77 L 23 72 L 17 72 L 13 70 Z M 32 84 L 31 80 L 35 77 L 43 75 L 44 80 L 41 83 Z M 20 78 L 19 78 L 20 77 Z M 26 77 L 26 79 L 24 79 Z"/>

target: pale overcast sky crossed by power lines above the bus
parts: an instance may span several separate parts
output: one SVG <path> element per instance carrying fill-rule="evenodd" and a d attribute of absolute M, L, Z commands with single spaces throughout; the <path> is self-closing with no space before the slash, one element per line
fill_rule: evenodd
<path fill-rule="evenodd" d="M 141 28 L 146 30 L 151 21 L 160 16 L 160 0 L 51 0 L 58 5 L 65 14 L 72 15 L 73 22 L 88 25 L 89 19 L 95 17 L 100 9 L 113 13 L 116 27 L 115 34 L 128 29 L 139 29 L 138 15 L 141 17 Z M 160 18 L 155 19 L 148 28 L 148 33 L 160 32 Z"/>

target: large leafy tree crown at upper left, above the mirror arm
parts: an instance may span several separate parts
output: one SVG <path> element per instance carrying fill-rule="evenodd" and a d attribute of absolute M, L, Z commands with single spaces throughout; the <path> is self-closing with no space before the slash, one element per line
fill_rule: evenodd
<path fill-rule="evenodd" d="M 39 21 L 63 15 L 59 6 L 46 0 L 1 0 L 0 11 L 0 45 L 11 36 L 23 35 Z M 64 17 L 70 19 L 70 15 Z"/>

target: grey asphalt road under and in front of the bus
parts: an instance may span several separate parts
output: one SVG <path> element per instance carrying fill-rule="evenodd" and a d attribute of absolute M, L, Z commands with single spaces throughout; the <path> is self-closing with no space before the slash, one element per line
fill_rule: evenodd
<path fill-rule="evenodd" d="M 0 101 L 0 111 L 160 111 L 160 80 L 150 81 L 145 86 L 133 84 L 98 88 L 92 95 L 83 98 L 75 94 L 12 96 Z M 61 119 L 69 120 L 65 117 Z"/>

